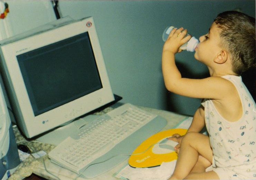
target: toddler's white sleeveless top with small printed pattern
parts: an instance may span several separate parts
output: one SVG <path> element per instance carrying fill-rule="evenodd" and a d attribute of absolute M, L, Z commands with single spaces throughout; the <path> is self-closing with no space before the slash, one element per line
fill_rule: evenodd
<path fill-rule="evenodd" d="M 205 123 L 210 136 L 215 167 L 256 165 L 256 105 L 240 76 L 222 76 L 237 88 L 243 106 L 242 117 L 235 122 L 222 117 L 213 102 L 205 99 Z M 256 168 L 255 168 L 256 169 Z"/>

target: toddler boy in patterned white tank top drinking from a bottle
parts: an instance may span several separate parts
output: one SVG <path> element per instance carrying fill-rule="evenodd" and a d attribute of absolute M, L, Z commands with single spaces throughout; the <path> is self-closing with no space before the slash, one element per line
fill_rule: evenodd
<path fill-rule="evenodd" d="M 240 76 L 255 67 L 255 19 L 236 11 L 217 16 L 195 49 L 210 73 L 204 79 L 182 78 L 175 64 L 174 55 L 191 38 L 186 33 L 173 29 L 163 46 L 164 83 L 203 102 L 187 134 L 173 137 L 180 150 L 170 179 L 256 179 L 256 105 Z M 204 126 L 209 136 L 199 133 Z"/>

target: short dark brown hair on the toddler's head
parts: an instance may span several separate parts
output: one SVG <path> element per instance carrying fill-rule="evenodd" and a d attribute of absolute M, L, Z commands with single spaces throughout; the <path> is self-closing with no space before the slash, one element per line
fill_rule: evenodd
<path fill-rule="evenodd" d="M 237 11 L 226 11 L 218 14 L 214 22 L 221 30 L 220 46 L 231 56 L 233 72 L 240 75 L 255 66 L 255 18 Z"/>

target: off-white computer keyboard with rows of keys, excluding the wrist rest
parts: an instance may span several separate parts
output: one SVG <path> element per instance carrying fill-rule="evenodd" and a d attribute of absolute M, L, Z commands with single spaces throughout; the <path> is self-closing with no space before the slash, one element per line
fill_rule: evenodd
<path fill-rule="evenodd" d="M 95 159 L 105 155 L 156 117 L 134 105 L 124 104 L 79 128 L 50 151 L 49 158 L 66 169 L 82 173 Z M 151 131 L 149 129 L 150 135 Z"/>

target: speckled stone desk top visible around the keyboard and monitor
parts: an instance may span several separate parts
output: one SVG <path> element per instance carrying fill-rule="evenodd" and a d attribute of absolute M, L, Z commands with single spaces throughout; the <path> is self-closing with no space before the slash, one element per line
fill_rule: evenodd
<path fill-rule="evenodd" d="M 180 121 L 182 121 L 184 118 L 187 118 L 187 116 L 180 115 L 177 113 L 167 112 L 164 110 L 158 110 L 158 109 L 152 109 L 147 107 L 138 106 L 148 112 L 151 112 L 153 114 L 157 114 L 159 116 L 162 116 L 163 118 L 167 119 L 167 125 L 162 130 L 171 129 L 177 124 L 179 124 Z M 102 115 L 104 113 L 107 113 L 111 111 L 113 107 L 108 107 L 104 109 L 101 112 L 95 113 L 95 115 Z M 18 131 L 18 129 L 15 130 L 15 135 L 17 141 L 25 141 L 25 138 L 22 137 Z M 55 146 L 48 145 L 44 143 L 38 143 L 38 142 L 27 142 L 29 147 L 33 147 L 34 151 L 44 150 L 45 152 L 51 151 Z M 93 178 L 93 179 L 117 179 L 113 177 L 113 174 L 116 173 L 118 170 L 122 169 L 125 165 L 127 165 L 128 158 L 124 160 L 122 163 L 114 167 L 113 169 Z M 44 165 L 45 164 L 45 165 Z M 44 156 L 42 158 L 35 159 L 33 157 L 27 158 L 24 162 L 21 163 L 21 165 L 18 167 L 17 171 L 10 177 L 10 180 L 12 179 L 22 179 L 24 177 L 30 176 L 30 174 L 35 173 L 38 176 L 44 177 L 46 179 L 53 179 L 57 180 L 58 178 L 52 176 L 45 170 L 45 166 L 48 171 L 51 171 L 51 173 L 56 174 L 61 180 L 71 180 L 75 179 L 77 177 L 77 174 L 75 174 L 72 171 L 69 171 L 67 169 L 61 168 L 54 163 L 51 163 L 47 156 Z M 77 178 L 77 180 L 83 180 L 83 178 Z"/>

